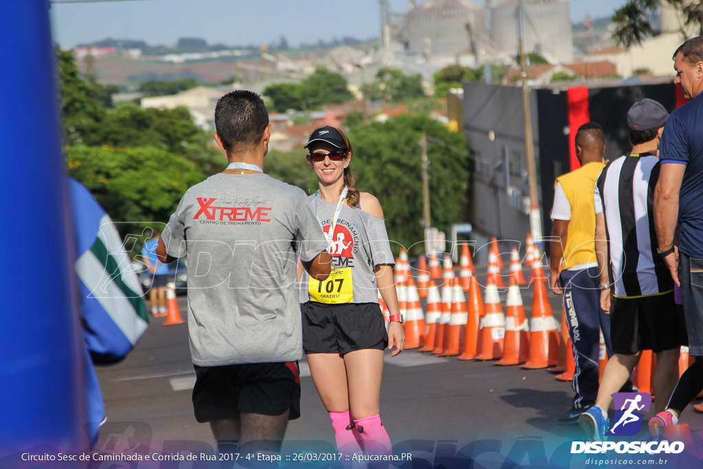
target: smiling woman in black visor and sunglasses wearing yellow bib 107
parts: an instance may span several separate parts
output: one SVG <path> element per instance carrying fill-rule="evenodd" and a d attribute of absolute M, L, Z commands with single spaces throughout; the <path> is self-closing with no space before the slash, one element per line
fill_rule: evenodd
<path fill-rule="evenodd" d="M 344 454 L 391 454 L 379 416 L 383 350 L 405 345 L 393 278 L 394 259 L 373 195 L 354 188 L 352 145 L 340 129 L 320 127 L 305 146 L 319 190 L 309 200 L 328 238 L 332 274 L 302 278 L 303 348 Z M 301 269 L 299 269 L 299 273 Z M 299 276 L 300 278 L 300 276 Z M 388 329 L 378 291 L 390 313 Z"/>

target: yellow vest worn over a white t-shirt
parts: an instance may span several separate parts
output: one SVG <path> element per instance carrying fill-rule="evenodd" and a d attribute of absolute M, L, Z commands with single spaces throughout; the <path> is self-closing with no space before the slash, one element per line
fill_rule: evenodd
<path fill-rule="evenodd" d="M 569 220 L 567 243 L 564 246 L 562 269 L 571 269 L 579 264 L 598 262 L 595 257 L 595 204 L 593 192 L 602 162 L 588 163 L 574 171 L 557 177 L 569 199 L 572 218 Z"/>

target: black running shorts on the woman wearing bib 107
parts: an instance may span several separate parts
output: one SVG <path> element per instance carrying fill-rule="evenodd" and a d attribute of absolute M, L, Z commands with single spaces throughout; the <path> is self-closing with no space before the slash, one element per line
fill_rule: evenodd
<path fill-rule="evenodd" d="M 385 319 L 378 303 L 300 305 L 306 354 L 346 354 L 388 347 Z"/>

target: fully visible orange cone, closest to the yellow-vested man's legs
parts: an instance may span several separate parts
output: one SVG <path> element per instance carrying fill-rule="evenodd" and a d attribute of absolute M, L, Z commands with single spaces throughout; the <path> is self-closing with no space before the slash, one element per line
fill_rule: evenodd
<path fill-rule="evenodd" d="M 558 323 L 552 314 L 544 282 L 534 282 L 532 317 L 529 330 L 529 360 L 522 368 L 535 369 L 559 363 Z"/>

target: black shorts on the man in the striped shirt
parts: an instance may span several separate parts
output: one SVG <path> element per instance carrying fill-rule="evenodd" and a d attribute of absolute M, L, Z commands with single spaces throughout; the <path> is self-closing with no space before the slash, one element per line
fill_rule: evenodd
<path fill-rule="evenodd" d="M 610 312 L 613 352 L 632 355 L 640 350 L 663 352 L 688 345 L 681 309 L 673 291 L 664 295 L 614 298 Z"/>

